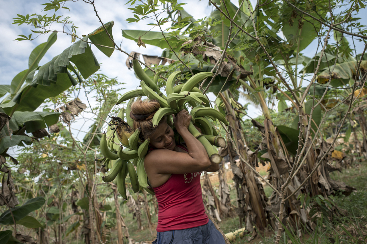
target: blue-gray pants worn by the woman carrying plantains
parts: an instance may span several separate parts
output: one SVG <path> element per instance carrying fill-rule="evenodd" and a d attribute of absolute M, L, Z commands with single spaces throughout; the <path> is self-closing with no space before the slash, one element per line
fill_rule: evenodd
<path fill-rule="evenodd" d="M 225 244 L 225 241 L 209 219 L 206 225 L 157 232 L 157 239 L 152 244 Z"/>

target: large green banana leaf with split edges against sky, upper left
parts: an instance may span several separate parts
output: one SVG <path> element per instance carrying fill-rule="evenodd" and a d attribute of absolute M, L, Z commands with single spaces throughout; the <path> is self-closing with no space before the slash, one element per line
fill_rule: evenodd
<path fill-rule="evenodd" d="M 112 37 L 113 21 L 105 24 L 110 36 Z M 11 82 L 10 95 L 4 99 L 0 106 L 4 111 L 12 115 L 15 111 L 33 111 L 40 106 L 43 101 L 49 97 L 57 96 L 64 90 L 78 82 L 70 74 L 70 70 L 77 75 L 79 82 L 82 78 L 76 72 L 75 65 L 84 79 L 99 69 L 99 64 L 94 56 L 87 41 L 91 41 L 105 55 L 110 56 L 114 49 L 101 47 L 106 45 L 113 47 L 108 34 L 97 30 L 83 37 L 66 48 L 61 54 L 55 56 L 50 62 L 43 66 L 38 66 L 41 58 L 56 41 L 56 33 L 51 33 L 48 41 L 36 47 L 29 57 L 29 69 L 19 73 Z M 36 75 L 35 71 L 38 70 Z M 23 85 L 26 83 L 25 85 Z"/>

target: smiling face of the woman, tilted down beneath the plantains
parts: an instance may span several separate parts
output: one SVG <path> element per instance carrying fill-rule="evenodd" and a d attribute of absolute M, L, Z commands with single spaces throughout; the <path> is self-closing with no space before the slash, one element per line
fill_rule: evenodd
<path fill-rule="evenodd" d="M 150 145 L 158 149 L 175 149 L 176 143 L 172 128 L 167 123 L 159 123 L 150 137 Z"/>

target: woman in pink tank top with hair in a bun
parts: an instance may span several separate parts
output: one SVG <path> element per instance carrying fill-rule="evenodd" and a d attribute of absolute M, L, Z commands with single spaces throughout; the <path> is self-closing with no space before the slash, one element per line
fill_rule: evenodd
<path fill-rule="evenodd" d="M 154 129 L 152 118 L 159 107 L 156 100 L 138 100 L 130 112 L 134 129 L 141 127 L 141 139 L 150 139 L 144 167 L 159 208 L 153 244 L 224 244 L 222 234 L 205 214 L 200 185 L 201 171 L 214 172 L 219 165 L 211 163 L 204 146 L 189 132 L 188 111 L 173 116 L 186 146 L 176 144 L 166 118 Z"/>

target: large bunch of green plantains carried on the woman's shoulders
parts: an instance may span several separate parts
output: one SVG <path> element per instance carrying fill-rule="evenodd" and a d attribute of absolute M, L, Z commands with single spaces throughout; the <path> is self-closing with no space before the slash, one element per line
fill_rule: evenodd
<path fill-rule="evenodd" d="M 125 183 L 127 174 L 130 176 L 131 188 L 134 192 L 138 192 L 141 187 L 154 195 L 144 169 L 144 158 L 148 152 L 149 139 L 142 141 L 139 138 L 141 129 L 138 128 L 134 131 L 134 121 L 129 116 L 131 104 L 136 97 L 139 100 L 142 96 L 147 96 L 149 99 L 159 101 L 161 107 L 153 116 L 152 122 L 154 127 L 158 126 L 158 123 L 164 116 L 166 116 L 167 120 L 172 121 L 171 115 L 182 109 L 187 110 L 186 104 L 189 104 L 192 107 L 190 111 L 192 122 L 190 122 L 188 129 L 204 145 L 213 163 L 220 163 L 222 158 L 212 145 L 224 148 L 226 141 L 223 137 L 218 136 L 217 130 L 210 120 L 215 121 L 218 119 L 225 125 L 228 125 L 224 115 L 218 110 L 210 108 L 207 96 L 196 87 L 204 79 L 212 77 L 213 73 L 201 72 L 193 75 L 185 83 L 174 86 L 177 76 L 181 74 L 181 71 L 175 71 L 167 79 L 167 96 L 165 96 L 157 86 L 159 75 L 165 71 L 157 72 L 154 80 L 152 80 L 143 71 L 136 59 L 132 60 L 132 63 L 135 74 L 141 79 L 141 89 L 126 92 L 117 101 L 116 104 L 120 104 L 130 99 L 126 108 L 126 122 L 124 121 L 125 108 L 122 108 L 117 117 L 111 117 L 112 121 L 109 123 L 107 130 L 109 137 L 106 136 L 106 133 L 103 133 L 100 145 L 101 152 L 106 158 L 102 166 L 108 171 L 102 179 L 105 182 L 113 181 L 124 199 L 127 199 Z M 196 126 L 201 129 L 203 134 L 196 129 Z M 177 132 L 175 132 L 175 140 L 177 143 L 180 143 L 182 140 Z M 133 162 L 131 163 L 130 160 Z M 109 170 L 111 164 L 112 167 Z M 134 165 L 136 166 L 136 171 Z"/>

